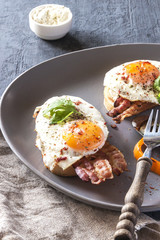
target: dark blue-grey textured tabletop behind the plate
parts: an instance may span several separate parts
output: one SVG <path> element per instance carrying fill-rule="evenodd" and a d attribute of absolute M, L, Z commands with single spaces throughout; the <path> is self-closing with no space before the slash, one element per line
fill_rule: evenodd
<path fill-rule="evenodd" d="M 44 41 L 29 29 L 28 13 L 44 0 L 0 1 L 0 95 L 28 68 L 63 53 L 121 43 L 160 42 L 159 0 L 62 0 L 73 26 L 57 41 Z M 47 3 L 53 3 L 48 0 Z"/>

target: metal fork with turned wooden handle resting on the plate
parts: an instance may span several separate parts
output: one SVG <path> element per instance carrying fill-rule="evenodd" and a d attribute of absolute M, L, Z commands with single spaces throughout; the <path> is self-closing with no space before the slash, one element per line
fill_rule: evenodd
<path fill-rule="evenodd" d="M 152 160 L 150 159 L 152 149 L 160 146 L 160 122 L 158 122 L 158 115 L 159 110 L 157 110 L 154 124 L 152 124 L 153 110 L 150 113 L 143 136 L 143 141 L 147 148 L 143 156 L 138 159 L 134 180 L 125 196 L 125 205 L 122 207 L 114 235 L 115 240 L 135 239 L 134 230 L 143 202 L 145 182 L 152 166 Z"/>

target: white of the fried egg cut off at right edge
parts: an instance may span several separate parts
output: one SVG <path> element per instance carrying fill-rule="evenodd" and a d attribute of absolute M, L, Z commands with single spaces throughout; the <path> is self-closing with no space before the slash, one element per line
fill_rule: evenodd
<path fill-rule="evenodd" d="M 121 96 L 130 101 L 144 101 L 159 104 L 153 88 L 148 86 L 146 89 L 144 89 L 141 84 L 135 84 L 131 79 L 128 79 L 129 82 L 125 83 L 121 78 L 122 73 L 124 72 L 123 68 L 130 63 L 138 61 L 150 62 L 152 65 L 157 67 L 158 70 L 160 70 L 160 62 L 158 61 L 135 60 L 132 62 L 127 62 L 112 68 L 105 74 L 104 86 L 109 86 L 109 90 L 111 91 L 114 101 L 118 98 L 118 96 Z"/>

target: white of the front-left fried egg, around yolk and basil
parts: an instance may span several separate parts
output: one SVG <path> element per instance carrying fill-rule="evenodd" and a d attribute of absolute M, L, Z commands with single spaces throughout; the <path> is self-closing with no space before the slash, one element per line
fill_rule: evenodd
<path fill-rule="evenodd" d="M 44 110 L 49 104 L 57 99 L 66 98 L 70 99 L 73 103 L 80 101 L 81 103 L 75 105 L 77 109 L 85 116 L 85 120 L 89 120 L 99 126 L 104 133 L 104 142 L 94 151 L 88 152 L 76 152 L 72 148 L 66 145 L 65 140 L 62 138 L 63 132 L 71 124 L 66 122 L 65 124 L 49 124 L 49 119 L 43 116 Z M 41 150 L 43 155 L 43 162 L 45 166 L 52 171 L 58 164 L 63 170 L 71 166 L 73 163 L 81 159 L 83 156 L 93 154 L 103 147 L 107 137 L 108 129 L 100 112 L 79 97 L 73 96 L 61 96 L 52 97 L 48 99 L 42 106 L 37 107 L 35 112 L 39 112 L 35 120 L 35 130 L 37 132 L 36 146 Z M 66 149 L 67 147 L 67 149 Z M 65 148 L 65 149 L 64 149 Z M 56 162 L 57 158 L 66 157 L 65 160 Z"/>

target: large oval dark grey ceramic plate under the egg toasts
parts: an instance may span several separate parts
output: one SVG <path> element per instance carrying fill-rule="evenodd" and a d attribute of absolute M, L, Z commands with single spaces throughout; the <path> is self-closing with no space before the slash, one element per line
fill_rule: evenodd
<path fill-rule="evenodd" d="M 112 129 L 112 121 L 103 106 L 103 79 L 110 68 L 135 59 L 160 60 L 160 45 L 134 44 L 99 47 L 66 54 L 41 63 L 15 79 L 1 101 L 1 128 L 15 154 L 32 171 L 59 191 L 85 203 L 119 210 L 132 183 L 136 161 L 133 147 L 140 135 L 133 130 L 131 119 Z M 78 177 L 64 178 L 50 173 L 35 147 L 33 111 L 55 95 L 74 95 L 98 108 L 107 121 L 109 140 L 125 155 L 128 172 L 98 186 Z M 147 178 L 142 211 L 160 209 L 160 177 L 150 173 Z"/>

